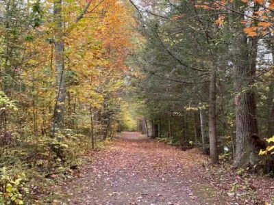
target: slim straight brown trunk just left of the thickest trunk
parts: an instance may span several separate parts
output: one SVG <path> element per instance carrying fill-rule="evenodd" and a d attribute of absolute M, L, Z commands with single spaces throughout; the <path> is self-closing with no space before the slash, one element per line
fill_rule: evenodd
<path fill-rule="evenodd" d="M 215 164 L 219 161 L 217 134 L 216 134 L 216 79 L 217 67 L 212 63 L 210 76 L 210 105 L 209 105 L 209 130 L 210 130 L 210 159 Z"/>

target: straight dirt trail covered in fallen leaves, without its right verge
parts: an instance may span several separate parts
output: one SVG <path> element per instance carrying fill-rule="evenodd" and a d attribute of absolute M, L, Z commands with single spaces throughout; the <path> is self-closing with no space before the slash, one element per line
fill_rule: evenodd
<path fill-rule="evenodd" d="M 69 204 L 200 204 L 191 191 L 198 166 L 197 150 L 121 133 L 62 189 Z"/>

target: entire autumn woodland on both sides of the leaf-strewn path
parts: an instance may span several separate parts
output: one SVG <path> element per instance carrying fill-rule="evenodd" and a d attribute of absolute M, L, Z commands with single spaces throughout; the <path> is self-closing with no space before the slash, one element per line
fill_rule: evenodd
<path fill-rule="evenodd" d="M 32 176 L 77 167 L 121 131 L 273 177 L 273 12 L 273 0 L 0 0 L 0 203 L 24 204 Z"/>

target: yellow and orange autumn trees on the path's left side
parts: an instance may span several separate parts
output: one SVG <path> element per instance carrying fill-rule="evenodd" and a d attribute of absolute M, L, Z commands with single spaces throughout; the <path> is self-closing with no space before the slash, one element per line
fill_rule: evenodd
<path fill-rule="evenodd" d="M 114 135 L 134 33 L 130 12 L 116 0 L 1 1 L 4 166 L 69 165 Z"/>

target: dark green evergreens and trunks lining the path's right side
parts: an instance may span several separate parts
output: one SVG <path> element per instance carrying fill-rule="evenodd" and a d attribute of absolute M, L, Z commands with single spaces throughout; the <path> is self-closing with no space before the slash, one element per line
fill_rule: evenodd
<path fill-rule="evenodd" d="M 234 167 L 273 170 L 264 141 L 274 135 L 273 1 L 149 1 L 136 8 L 142 49 L 132 57 L 134 92 L 151 136 L 201 145 L 211 163 L 226 147 Z M 260 157 L 266 147 L 268 157 Z"/>

